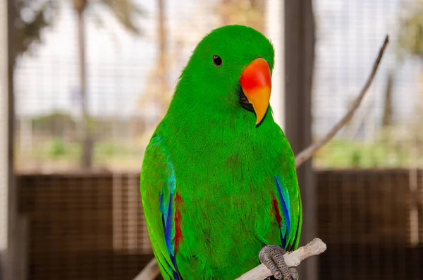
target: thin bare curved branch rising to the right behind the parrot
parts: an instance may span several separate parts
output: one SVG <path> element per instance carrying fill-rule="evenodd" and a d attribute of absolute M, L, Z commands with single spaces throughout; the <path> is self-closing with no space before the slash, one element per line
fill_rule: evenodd
<path fill-rule="evenodd" d="M 347 124 L 348 121 L 350 121 L 350 119 L 353 117 L 355 111 L 357 111 L 357 108 L 360 106 L 364 95 L 366 95 L 367 90 L 369 90 L 369 87 L 372 84 L 374 76 L 376 75 L 376 71 L 379 68 L 382 56 L 384 56 L 385 49 L 388 46 L 388 42 L 389 36 L 386 35 L 384 44 L 382 44 L 381 49 L 379 49 L 379 55 L 377 56 L 376 61 L 374 61 L 372 72 L 370 73 L 366 83 L 362 87 L 360 95 L 358 95 L 357 98 L 354 100 L 354 103 L 351 106 L 350 110 L 347 112 L 347 114 L 345 114 L 343 118 L 341 118 L 341 121 L 336 123 L 336 125 L 333 126 L 331 130 L 329 130 L 329 133 L 324 138 L 321 138 L 321 140 L 315 142 L 312 145 L 309 145 L 309 147 L 307 147 L 305 150 L 302 150 L 302 152 L 300 152 L 300 154 L 295 157 L 296 167 L 300 166 L 301 164 L 306 162 L 310 157 L 312 157 L 317 152 L 317 150 L 319 150 L 327 142 L 329 142 L 329 140 L 331 140 L 333 136 L 335 136 L 336 133 L 338 133 L 338 131 L 341 130 L 341 128 L 343 128 L 343 126 L 345 126 L 345 124 Z"/>

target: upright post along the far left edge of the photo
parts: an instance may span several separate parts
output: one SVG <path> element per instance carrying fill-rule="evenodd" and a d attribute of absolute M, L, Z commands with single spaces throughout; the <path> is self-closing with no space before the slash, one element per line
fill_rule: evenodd
<path fill-rule="evenodd" d="M 0 1 L 0 261 L 1 279 L 16 280 L 16 188 L 13 174 L 15 1 Z"/>

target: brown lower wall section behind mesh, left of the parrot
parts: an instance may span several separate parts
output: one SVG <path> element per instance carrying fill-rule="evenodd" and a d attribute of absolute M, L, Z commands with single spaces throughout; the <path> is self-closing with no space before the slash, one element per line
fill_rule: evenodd
<path fill-rule="evenodd" d="M 152 258 L 135 174 L 18 178 L 29 279 L 133 279 Z"/>

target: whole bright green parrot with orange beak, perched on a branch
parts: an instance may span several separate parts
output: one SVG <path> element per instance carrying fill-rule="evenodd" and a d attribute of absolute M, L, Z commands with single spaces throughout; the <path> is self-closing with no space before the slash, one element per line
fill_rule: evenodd
<path fill-rule="evenodd" d="M 193 51 L 145 151 L 140 190 L 164 279 L 235 279 L 260 262 L 298 279 L 295 157 L 269 106 L 274 48 L 242 25 Z M 272 276 L 273 277 L 273 276 Z"/>

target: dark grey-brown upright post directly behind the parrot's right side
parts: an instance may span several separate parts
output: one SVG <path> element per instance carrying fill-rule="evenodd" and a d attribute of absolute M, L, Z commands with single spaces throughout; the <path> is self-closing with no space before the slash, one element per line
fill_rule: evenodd
<path fill-rule="evenodd" d="M 314 17 L 312 0 L 284 1 L 285 133 L 297 154 L 312 142 L 312 73 L 314 65 Z M 301 244 L 317 237 L 317 195 L 311 162 L 298 169 L 303 222 Z M 317 258 L 298 267 L 300 279 L 317 279 Z"/>

